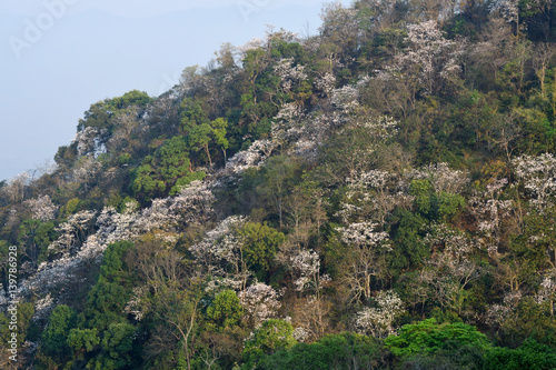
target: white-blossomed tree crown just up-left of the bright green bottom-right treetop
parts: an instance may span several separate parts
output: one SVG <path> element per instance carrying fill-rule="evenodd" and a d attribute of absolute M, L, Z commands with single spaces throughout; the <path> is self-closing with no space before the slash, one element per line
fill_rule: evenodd
<path fill-rule="evenodd" d="M 357 312 L 356 330 L 361 334 L 386 338 L 396 332 L 394 320 L 404 312 L 404 302 L 393 290 L 380 291 L 377 297 L 377 308 L 365 308 Z"/>

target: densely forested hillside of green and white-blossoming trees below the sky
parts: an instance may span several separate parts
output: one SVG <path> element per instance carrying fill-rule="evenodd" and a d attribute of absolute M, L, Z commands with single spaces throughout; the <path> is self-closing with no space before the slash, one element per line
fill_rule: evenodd
<path fill-rule="evenodd" d="M 546 1 L 371 1 L 97 102 L 0 183 L 0 368 L 556 368 Z"/>

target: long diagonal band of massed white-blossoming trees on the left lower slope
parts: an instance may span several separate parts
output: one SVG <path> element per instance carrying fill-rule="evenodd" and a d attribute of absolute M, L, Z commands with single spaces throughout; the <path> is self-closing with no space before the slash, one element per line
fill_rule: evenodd
<path fill-rule="evenodd" d="M 57 230 L 61 236 L 49 246 L 50 250 L 64 253 L 52 262 L 42 262 L 23 288 L 40 291 L 76 279 L 72 271 L 85 262 L 101 259 L 108 244 L 122 240 L 133 241 L 145 233 L 152 232 L 171 248 L 180 237 L 177 227 L 180 223 L 203 222 L 212 212 L 212 201 L 209 184 L 192 182 L 177 197 L 156 199 L 151 207 L 141 211 L 137 209 L 137 202 L 126 204 L 123 213 L 117 212 L 113 207 L 106 207 L 97 217 L 95 233 L 91 233 L 95 211 L 72 214 L 67 222 L 60 224 Z M 72 256 L 69 249 L 75 252 Z"/>

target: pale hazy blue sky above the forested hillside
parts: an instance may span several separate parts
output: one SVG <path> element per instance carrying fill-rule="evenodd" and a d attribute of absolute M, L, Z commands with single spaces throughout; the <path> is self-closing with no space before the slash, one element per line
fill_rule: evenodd
<path fill-rule="evenodd" d="M 324 2 L 2 0 L 0 180 L 53 160 L 91 103 L 133 89 L 158 96 L 266 24 L 315 33 Z"/>

